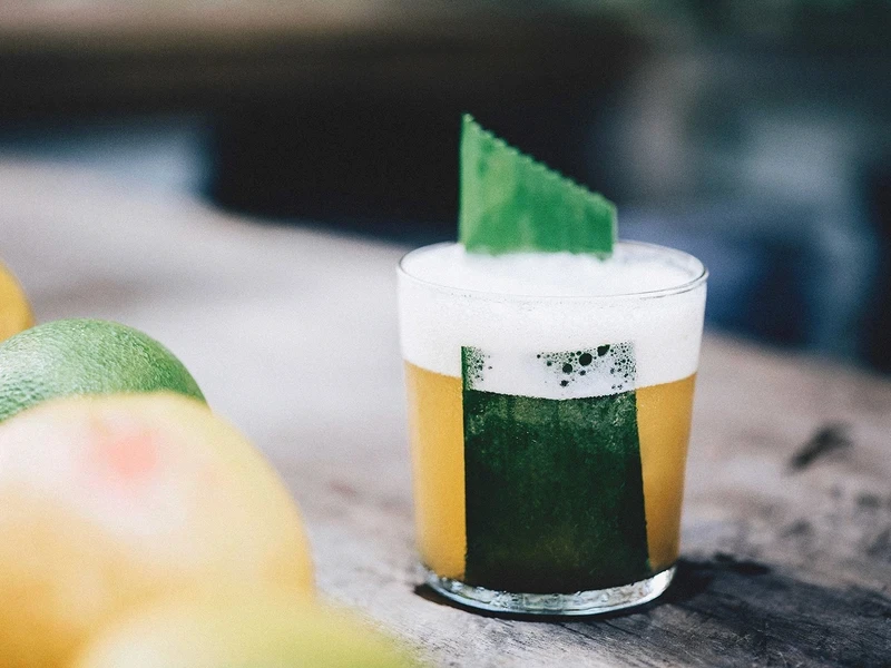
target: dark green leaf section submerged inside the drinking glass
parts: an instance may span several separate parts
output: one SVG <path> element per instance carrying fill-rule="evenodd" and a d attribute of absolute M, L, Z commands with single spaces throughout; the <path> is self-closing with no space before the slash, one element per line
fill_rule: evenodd
<path fill-rule="evenodd" d="M 545 385 L 610 392 L 551 399 L 479 389 L 491 360 L 462 348 L 468 583 L 558 593 L 650 574 L 631 354 L 601 345 L 521 361 Z"/>

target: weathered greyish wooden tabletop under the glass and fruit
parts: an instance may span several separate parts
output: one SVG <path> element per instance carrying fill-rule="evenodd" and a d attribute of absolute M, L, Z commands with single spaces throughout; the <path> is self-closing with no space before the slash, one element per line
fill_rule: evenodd
<path fill-rule="evenodd" d="M 412 567 L 402 248 L 46 167 L 0 163 L 0 256 L 38 316 L 168 344 L 293 489 L 323 592 L 434 665 L 891 666 L 888 380 L 708 336 L 669 592 L 606 619 L 470 613 Z"/>

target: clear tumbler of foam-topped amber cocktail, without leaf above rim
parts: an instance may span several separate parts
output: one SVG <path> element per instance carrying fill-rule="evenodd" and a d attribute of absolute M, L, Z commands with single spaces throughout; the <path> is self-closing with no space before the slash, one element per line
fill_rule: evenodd
<path fill-rule="evenodd" d="M 694 257 L 473 253 L 399 269 L 418 548 L 466 605 L 584 615 L 670 582 L 705 308 Z"/>

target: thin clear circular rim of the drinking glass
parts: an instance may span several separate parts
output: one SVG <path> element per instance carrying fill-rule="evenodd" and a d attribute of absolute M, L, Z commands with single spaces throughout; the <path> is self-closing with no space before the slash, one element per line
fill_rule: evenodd
<path fill-rule="evenodd" d="M 650 250 L 657 250 L 659 253 L 669 253 L 678 257 L 683 257 L 687 261 L 693 261 L 696 263 L 694 266 L 698 265 L 699 269 L 696 273 L 696 276 L 686 281 L 684 283 L 679 283 L 677 285 L 672 285 L 668 287 L 659 287 L 656 289 L 647 289 L 647 291 L 637 291 L 637 292 L 625 292 L 625 293 L 616 293 L 611 295 L 527 295 L 527 294 L 518 294 L 518 293 L 508 293 L 508 292 L 497 292 L 497 291 L 486 291 L 486 289 L 474 289 L 474 288 L 464 288 L 458 287 L 454 285 L 448 285 L 444 283 L 437 283 L 434 281 L 428 281 L 425 278 L 421 278 L 415 274 L 410 273 L 405 268 L 405 261 L 409 259 L 411 255 L 415 253 L 421 253 L 424 250 L 430 250 L 432 248 L 438 248 L 441 246 L 453 246 L 457 242 L 438 242 L 435 244 L 428 244 L 425 246 L 420 246 L 418 248 L 413 248 L 405 253 L 400 259 L 396 265 L 396 272 L 400 276 L 404 276 L 405 278 L 419 283 L 421 285 L 427 285 L 429 287 L 435 288 L 441 292 L 449 292 L 452 294 L 463 294 L 470 296 L 478 296 L 481 298 L 498 298 L 498 299 L 535 299 L 535 301 L 546 301 L 546 302 L 561 302 L 561 301 L 616 301 L 616 299 L 652 299 L 652 298 L 659 298 L 659 297 L 668 297 L 673 295 L 681 295 L 684 293 L 688 293 L 691 291 L 696 289 L 701 285 L 703 285 L 708 278 L 708 268 L 705 266 L 705 263 L 701 261 L 695 255 L 691 255 L 685 250 L 679 250 L 677 248 L 672 248 L 670 246 L 660 246 L 659 244 L 650 244 L 648 242 L 634 242 L 628 239 L 619 239 L 616 242 L 617 246 L 630 246 L 636 248 L 648 248 Z"/>

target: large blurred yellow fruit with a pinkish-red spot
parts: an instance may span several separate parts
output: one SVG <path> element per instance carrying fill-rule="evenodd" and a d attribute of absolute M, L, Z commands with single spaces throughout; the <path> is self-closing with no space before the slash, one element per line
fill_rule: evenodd
<path fill-rule="evenodd" d="M 233 583 L 313 596 L 267 461 L 174 393 L 72 396 L 0 424 L 0 668 L 67 666 L 108 620 Z"/>

